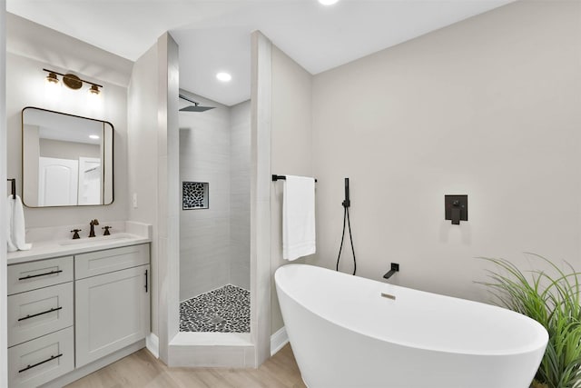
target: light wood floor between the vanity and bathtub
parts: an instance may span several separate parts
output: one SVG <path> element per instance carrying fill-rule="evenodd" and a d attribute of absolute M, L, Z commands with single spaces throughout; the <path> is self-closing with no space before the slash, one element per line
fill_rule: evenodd
<path fill-rule="evenodd" d="M 291 345 L 258 369 L 168 368 L 145 349 L 89 374 L 67 388 L 306 388 Z"/>

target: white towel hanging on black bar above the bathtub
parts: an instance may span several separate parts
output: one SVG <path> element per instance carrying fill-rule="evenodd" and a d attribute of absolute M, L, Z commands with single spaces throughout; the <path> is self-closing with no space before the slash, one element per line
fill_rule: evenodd
<path fill-rule="evenodd" d="M 295 260 L 315 251 L 315 179 L 287 175 L 282 201 L 282 257 Z"/>

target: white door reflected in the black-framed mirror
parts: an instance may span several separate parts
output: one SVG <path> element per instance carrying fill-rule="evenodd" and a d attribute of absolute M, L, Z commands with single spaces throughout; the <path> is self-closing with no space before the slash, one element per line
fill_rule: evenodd
<path fill-rule="evenodd" d="M 39 157 L 38 161 L 38 205 L 76 204 L 78 162 L 54 157 Z"/>

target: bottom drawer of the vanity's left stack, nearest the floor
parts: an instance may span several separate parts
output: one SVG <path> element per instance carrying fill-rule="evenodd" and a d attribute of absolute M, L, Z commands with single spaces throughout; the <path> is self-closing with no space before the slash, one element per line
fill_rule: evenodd
<path fill-rule="evenodd" d="M 8 349 L 10 388 L 37 387 L 73 369 L 73 327 Z"/>

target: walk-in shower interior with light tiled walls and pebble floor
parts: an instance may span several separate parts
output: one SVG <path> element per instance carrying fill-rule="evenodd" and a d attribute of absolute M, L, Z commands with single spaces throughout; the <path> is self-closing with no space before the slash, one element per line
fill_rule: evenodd
<path fill-rule="evenodd" d="M 251 104 L 181 95 L 180 331 L 250 333 Z"/>

